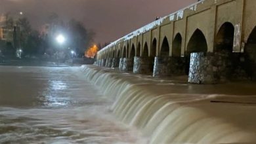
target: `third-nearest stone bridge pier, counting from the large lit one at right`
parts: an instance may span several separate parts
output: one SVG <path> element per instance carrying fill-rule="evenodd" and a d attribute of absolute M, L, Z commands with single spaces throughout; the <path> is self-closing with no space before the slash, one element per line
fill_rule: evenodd
<path fill-rule="evenodd" d="M 153 69 L 153 58 L 140 58 L 135 57 L 134 58 L 134 65 L 133 65 L 133 73 L 150 73 Z"/>

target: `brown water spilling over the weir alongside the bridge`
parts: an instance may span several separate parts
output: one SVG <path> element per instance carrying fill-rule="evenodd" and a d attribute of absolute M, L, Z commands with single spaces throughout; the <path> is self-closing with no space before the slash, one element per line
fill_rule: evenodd
<path fill-rule="evenodd" d="M 148 143 L 255 143 L 255 84 L 194 85 L 84 65 L 110 110 Z M 237 86 L 237 87 L 234 87 Z"/>

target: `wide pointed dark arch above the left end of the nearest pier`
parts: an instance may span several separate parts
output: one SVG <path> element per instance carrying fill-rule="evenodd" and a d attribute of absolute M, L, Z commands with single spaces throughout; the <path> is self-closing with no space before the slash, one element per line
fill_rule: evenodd
<path fill-rule="evenodd" d="M 186 46 L 186 54 L 190 54 L 192 52 L 207 52 L 207 41 L 205 39 L 205 35 L 200 29 L 196 29 L 196 31 L 194 31 L 188 41 L 188 45 Z"/>

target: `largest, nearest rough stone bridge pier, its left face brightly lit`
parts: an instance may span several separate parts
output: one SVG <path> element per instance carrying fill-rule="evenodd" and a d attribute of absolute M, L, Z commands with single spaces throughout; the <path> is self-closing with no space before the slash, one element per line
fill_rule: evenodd
<path fill-rule="evenodd" d="M 230 61 L 221 53 L 196 52 L 190 54 L 188 82 L 216 84 L 226 82 Z"/>

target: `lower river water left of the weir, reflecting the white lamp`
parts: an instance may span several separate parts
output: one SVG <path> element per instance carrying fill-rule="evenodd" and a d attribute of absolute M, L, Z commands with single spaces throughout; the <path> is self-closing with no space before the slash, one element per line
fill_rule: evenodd
<path fill-rule="evenodd" d="M 0 143 L 144 143 L 80 67 L 0 67 Z"/>

